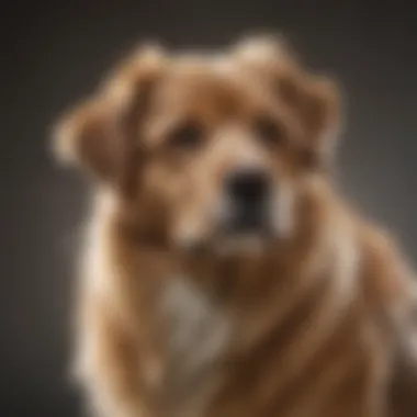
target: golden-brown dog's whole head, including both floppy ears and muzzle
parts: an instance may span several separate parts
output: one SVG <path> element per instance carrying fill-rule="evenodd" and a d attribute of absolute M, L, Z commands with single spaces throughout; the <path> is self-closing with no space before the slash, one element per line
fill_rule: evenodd
<path fill-rule="evenodd" d="M 151 50 L 64 121 L 60 145 L 129 200 L 140 227 L 181 248 L 237 249 L 295 233 L 337 104 L 279 44 Z"/>

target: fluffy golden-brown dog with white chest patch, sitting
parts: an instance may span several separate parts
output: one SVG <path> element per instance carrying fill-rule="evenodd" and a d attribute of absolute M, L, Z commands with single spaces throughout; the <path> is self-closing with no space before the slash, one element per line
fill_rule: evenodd
<path fill-rule="evenodd" d="M 94 195 L 75 375 L 103 417 L 408 417 L 416 291 L 333 174 L 340 88 L 280 38 L 144 45 L 54 134 Z"/>

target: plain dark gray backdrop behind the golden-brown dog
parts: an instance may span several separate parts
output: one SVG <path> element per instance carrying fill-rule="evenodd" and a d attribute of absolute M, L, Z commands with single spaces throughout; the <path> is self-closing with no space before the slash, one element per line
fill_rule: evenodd
<path fill-rule="evenodd" d="M 70 269 L 86 210 L 58 170 L 48 126 L 139 40 L 215 46 L 258 29 L 286 33 L 348 98 L 340 179 L 364 213 L 417 257 L 417 14 L 402 1 L 42 1 L 1 9 L 0 415 L 79 415 L 65 380 Z"/>

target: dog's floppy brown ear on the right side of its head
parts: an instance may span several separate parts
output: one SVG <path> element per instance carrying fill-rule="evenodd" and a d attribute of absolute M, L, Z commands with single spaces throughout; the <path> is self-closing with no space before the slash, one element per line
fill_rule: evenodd
<path fill-rule="evenodd" d="M 329 77 L 307 71 L 282 37 L 256 36 L 240 42 L 237 56 L 271 81 L 301 122 L 308 147 L 328 153 L 340 125 L 340 89 Z"/>

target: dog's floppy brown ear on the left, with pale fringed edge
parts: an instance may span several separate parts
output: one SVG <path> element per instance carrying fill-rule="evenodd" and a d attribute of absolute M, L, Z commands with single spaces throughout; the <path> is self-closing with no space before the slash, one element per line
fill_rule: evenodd
<path fill-rule="evenodd" d="M 111 181 L 125 164 L 129 124 L 162 70 L 164 54 L 140 48 L 103 82 L 91 98 L 58 121 L 53 149 L 58 160 L 78 165 L 101 181 Z M 137 127 L 137 125 L 136 125 Z"/>

